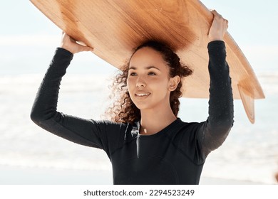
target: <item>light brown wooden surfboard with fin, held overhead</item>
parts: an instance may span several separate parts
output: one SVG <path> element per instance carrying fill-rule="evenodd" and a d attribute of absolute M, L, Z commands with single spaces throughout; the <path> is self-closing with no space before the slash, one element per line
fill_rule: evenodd
<path fill-rule="evenodd" d="M 207 33 L 212 13 L 198 0 L 31 0 L 69 36 L 94 48 L 116 68 L 146 40 L 168 43 L 193 70 L 185 78 L 183 97 L 209 97 Z M 242 50 L 225 35 L 234 99 L 242 99 L 254 123 L 254 99 L 264 93 Z"/>

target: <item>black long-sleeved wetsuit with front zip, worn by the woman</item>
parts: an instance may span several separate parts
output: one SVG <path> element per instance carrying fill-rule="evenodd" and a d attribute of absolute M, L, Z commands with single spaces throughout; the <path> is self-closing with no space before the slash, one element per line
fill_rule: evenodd
<path fill-rule="evenodd" d="M 56 111 L 58 90 L 73 54 L 58 48 L 38 90 L 31 119 L 78 144 L 103 149 L 114 184 L 198 184 L 205 158 L 225 141 L 233 124 L 233 99 L 225 43 L 208 44 L 210 100 L 207 121 L 176 119 L 156 134 L 139 134 L 140 124 L 81 119 Z"/>

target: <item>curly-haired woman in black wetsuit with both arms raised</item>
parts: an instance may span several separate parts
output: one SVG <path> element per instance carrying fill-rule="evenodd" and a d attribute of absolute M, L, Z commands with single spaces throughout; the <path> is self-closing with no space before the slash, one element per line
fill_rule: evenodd
<path fill-rule="evenodd" d="M 170 48 L 158 42 L 138 47 L 117 78 L 123 95 L 120 105 L 110 109 L 113 121 L 57 112 L 61 77 L 73 54 L 93 50 L 65 33 L 38 90 L 31 119 L 64 139 L 103 149 L 113 166 L 114 184 L 198 184 L 205 158 L 225 141 L 233 124 L 231 80 L 222 41 L 227 20 L 216 11 L 212 13 L 215 17 L 207 45 L 207 121 L 187 123 L 177 118 L 181 80 L 191 70 L 180 64 Z"/>

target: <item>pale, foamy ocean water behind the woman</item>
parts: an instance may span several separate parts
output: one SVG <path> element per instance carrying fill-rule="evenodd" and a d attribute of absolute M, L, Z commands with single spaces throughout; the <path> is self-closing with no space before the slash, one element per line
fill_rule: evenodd
<path fill-rule="evenodd" d="M 225 143 L 208 156 L 203 177 L 276 183 L 278 73 L 264 72 L 257 77 L 266 99 L 255 101 L 255 124 L 249 123 L 242 103 L 236 100 L 235 125 Z M 100 149 L 73 144 L 31 121 L 31 106 L 42 78 L 43 73 L 0 76 L 0 166 L 110 172 L 110 161 Z M 67 74 L 61 84 L 58 111 L 101 119 L 109 101 L 109 81 L 108 75 Z M 186 122 L 207 119 L 207 99 L 181 99 L 179 117 Z"/>

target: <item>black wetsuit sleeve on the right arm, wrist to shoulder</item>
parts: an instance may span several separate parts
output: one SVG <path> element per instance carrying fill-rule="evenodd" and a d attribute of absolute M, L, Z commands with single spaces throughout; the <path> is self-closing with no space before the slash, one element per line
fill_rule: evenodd
<path fill-rule="evenodd" d="M 212 41 L 207 48 L 210 72 L 209 117 L 203 123 L 199 135 L 205 156 L 222 145 L 234 122 L 232 82 L 225 59 L 225 43 Z"/>

